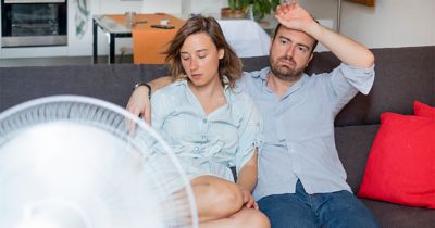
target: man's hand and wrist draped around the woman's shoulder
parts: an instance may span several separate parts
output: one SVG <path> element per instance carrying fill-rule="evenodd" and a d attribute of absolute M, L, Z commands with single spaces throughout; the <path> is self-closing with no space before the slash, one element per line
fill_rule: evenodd
<path fill-rule="evenodd" d="M 170 76 L 160 77 L 151 80 L 148 83 L 148 85 L 151 87 L 151 91 L 149 91 L 148 87 L 146 86 L 136 87 L 132 96 L 129 97 L 126 109 L 136 116 L 141 115 L 145 122 L 150 123 L 151 104 L 148 94 L 164 86 L 167 86 L 169 84 L 171 84 L 171 81 L 172 79 Z"/>

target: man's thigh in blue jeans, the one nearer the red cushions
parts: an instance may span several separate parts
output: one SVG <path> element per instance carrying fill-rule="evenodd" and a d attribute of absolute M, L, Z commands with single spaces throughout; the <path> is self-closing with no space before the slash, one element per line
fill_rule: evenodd
<path fill-rule="evenodd" d="M 348 191 L 315 194 L 316 214 L 321 227 L 372 228 L 380 227 L 372 213 Z"/>

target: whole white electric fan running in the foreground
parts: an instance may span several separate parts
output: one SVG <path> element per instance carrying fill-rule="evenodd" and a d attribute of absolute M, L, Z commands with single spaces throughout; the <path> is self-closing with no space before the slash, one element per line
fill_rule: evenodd
<path fill-rule="evenodd" d="M 77 96 L 0 114 L 0 227 L 198 227 L 164 141 L 114 104 Z"/>

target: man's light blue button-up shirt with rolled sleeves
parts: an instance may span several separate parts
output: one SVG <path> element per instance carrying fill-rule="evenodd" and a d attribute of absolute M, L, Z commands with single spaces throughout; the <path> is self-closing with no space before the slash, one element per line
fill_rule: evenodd
<path fill-rule="evenodd" d="M 278 98 L 268 88 L 270 68 L 245 73 L 238 87 L 263 118 L 257 200 L 294 193 L 298 179 L 312 193 L 351 191 L 334 140 L 334 119 L 358 93 L 369 93 L 374 69 L 340 64 L 331 73 L 307 75 Z"/>

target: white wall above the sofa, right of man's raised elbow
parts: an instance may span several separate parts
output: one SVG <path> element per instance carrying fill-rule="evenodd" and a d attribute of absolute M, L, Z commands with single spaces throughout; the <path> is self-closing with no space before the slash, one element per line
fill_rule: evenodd
<path fill-rule="evenodd" d="M 375 8 L 344 2 L 341 33 L 370 48 L 434 46 L 435 0 L 377 0 Z"/>

